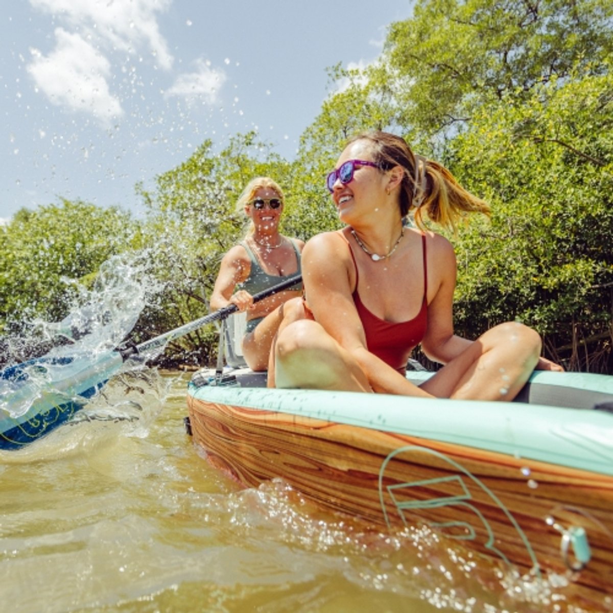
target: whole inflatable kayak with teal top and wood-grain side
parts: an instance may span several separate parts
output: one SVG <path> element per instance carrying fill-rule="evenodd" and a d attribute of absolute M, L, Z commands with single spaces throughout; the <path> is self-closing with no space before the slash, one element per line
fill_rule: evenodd
<path fill-rule="evenodd" d="M 240 484 L 283 478 L 377 530 L 427 524 L 522 572 L 566 576 L 589 610 L 610 598 L 613 377 L 541 371 L 516 402 L 492 403 L 267 389 L 262 375 L 226 373 L 194 374 L 186 425 Z"/>

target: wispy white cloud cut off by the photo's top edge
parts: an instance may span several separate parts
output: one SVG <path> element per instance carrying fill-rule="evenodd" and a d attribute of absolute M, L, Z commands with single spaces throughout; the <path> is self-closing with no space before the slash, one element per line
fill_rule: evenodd
<path fill-rule="evenodd" d="M 172 0 L 30 0 L 30 4 L 112 50 L 135 53 L 148 46 L 159 66 L 172 67 L 173 57 L 158 26 L 158 13 L 166 11 Z"/>

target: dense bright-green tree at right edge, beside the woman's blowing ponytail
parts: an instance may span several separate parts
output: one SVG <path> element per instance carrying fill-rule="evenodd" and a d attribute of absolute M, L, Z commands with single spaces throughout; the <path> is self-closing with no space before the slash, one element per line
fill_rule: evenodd
<path fill-rule="evenodd" d="M 611 371 L 613 75 L 484 106 L 449 164 L 492 204 L 457 242 L 458 324 L 520 319 L 573 369 Z"/>

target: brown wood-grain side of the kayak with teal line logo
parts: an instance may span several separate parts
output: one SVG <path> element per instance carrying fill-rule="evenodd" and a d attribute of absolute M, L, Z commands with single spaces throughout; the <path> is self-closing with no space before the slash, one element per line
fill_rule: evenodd
<path fill-rule="evenodd" d="M 378 530 L 425 523 L 504 564 L 566 576 L 599 608 L 611 591 L 609 474 L 192 395 L 188 408 L 194 441 L 242 485 L 283 478 Z"/>

